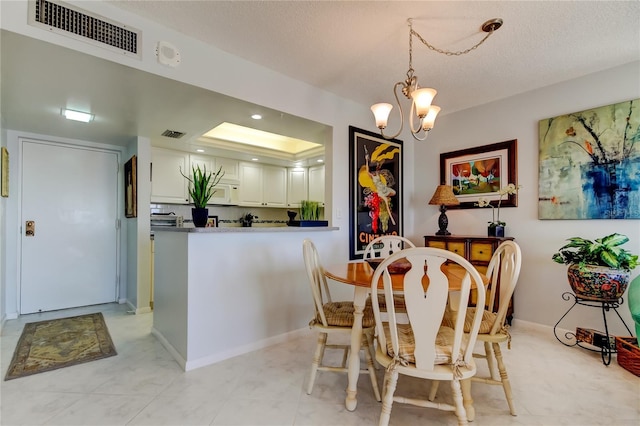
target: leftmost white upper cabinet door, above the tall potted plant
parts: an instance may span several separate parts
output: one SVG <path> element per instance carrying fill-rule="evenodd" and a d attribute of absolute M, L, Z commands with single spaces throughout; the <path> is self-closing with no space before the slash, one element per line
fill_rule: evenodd
<path fill-rule="evenodd" d="M 151 202 L 189 203 L 188 181 L 180 174 L 187 174 L 189 154 L 162 148 L 151 150 Z"/>

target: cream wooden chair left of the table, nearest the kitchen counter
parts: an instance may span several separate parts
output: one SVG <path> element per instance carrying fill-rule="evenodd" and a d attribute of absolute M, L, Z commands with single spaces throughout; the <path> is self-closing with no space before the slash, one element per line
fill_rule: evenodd
<path fill-rule="evenodd" d="M 313 296 L 314 315 L 309 322 L 309 327 L 318 332 L 318 341 L 316 350 L 311 363 L 311 372 L 309 374 L 309 383 L 307 385 L 307 394 L 311 394 L 313 385 L 316 380 L 316 374 L 319 371 L 334 371 L 347 373 L 347 361 L 349 358 L 350 344 L 327 344 L 329 335 L 342 335 L 347 342 L 351 338 L 351 328 L 353 326 L 353 302 L 343 301 L 334 302 L 331 299 L 329 285 L 324 275 L 320 257 L 315 244 L 309 239 L 305 239 L 302 243 L 305 268 L 311 286 L 311 294 Z M 369 374 L 371 378 L 371 386 L 376 400 L 380 401 L 380 391 L 378 389 L 378 381 L 376 379 L 375 368 L 371 353 L 373 351 L 373 333 L 374 333 L 373 310 L 370 305 L 365 307 L 364 317 L 362 319 L 362 348 L 364 350 L 367 369 L 362 369 L 361 374 Z M 325 365 L 323 363 L 325 349 L 340 349 L 343 351 L 342 364 L 340 366 Z"/>

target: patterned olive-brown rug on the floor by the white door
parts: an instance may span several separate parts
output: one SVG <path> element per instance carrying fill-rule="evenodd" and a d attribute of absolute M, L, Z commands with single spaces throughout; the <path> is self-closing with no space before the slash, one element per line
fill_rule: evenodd
<path fill-rule="evenodd" d="M 25 324 L 5 380 L 117 355 L 102 313 Z"/>

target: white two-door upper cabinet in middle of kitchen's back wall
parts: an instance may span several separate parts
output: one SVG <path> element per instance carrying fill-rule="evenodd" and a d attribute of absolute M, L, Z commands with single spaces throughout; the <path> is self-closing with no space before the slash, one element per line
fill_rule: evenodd
<path fill-rule="evenodd" d="M 239 171 L 239 205 L 287 206 L 287 169 L 285 167 L 241 162 Z"/>

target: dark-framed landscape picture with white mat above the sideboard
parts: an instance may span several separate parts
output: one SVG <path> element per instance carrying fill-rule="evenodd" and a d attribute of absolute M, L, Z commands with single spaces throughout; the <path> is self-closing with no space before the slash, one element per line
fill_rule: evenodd
<path fill-rule="evenodd" d="M 460 201 L 450 208 L 478 207 L 480 198 L 497 205 L 500 188 L 518 185 L 518 140 L 476 146 L 440 154 L 440 181 L 453 188 Z M 501 207 L 516 207 L 518 194 L 508 194 Z"/>

